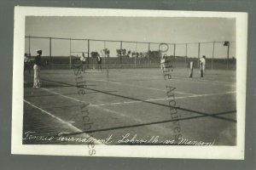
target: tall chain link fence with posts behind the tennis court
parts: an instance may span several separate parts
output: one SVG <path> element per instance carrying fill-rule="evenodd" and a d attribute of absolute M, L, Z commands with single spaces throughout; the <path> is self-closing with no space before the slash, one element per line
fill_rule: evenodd
<path fill-rule="evenodd" d="M 161 43 L 163 44 L 163 43 Z M 42 58 L 46 69 L 70 69 L 72 60 L 84 53 L 87 69 L 96 68 L 96 55 L 102 56 L 102 68 L 158 68 L 162 57 L 161 48 L 166 48 L 166 56 L 173 67 L 187 68 L 189 62 L 199 65 L 205 55 L 207 69 L 236 69 L 236 42 L 193 42 L 164 43 L 127 42 L 63 37 L 26 36 L 26 54 L 33 59 L 38 48 L 43 50 Z M 103 49 L 109 50 L 109 56 Z"/>

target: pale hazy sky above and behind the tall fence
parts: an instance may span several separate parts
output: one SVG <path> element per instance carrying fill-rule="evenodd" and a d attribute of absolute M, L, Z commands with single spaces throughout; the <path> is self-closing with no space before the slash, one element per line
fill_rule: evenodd
<path fill-rule="evenodd" d="M 198 42 L 230 41 L 230 58 L 236 57 L 236 20 L 224 18 L 188 18 L 188 17 L 60 17 L 26 16 L 26 36 L 66 37 L 84 39 L 104 39 L 132 42 L 190 43 L 187 46 L 189 57 L 198 56 Z M 31 54 L 43 49 L 43 56 L 49 55 L 49 39 L 31 38 Z M 90 41 L 90 52 L 103 48 L 110 50 L 110 56 L 116 56 L 120 42 Z M 147 52 L 148 43 L 123 42 L 126 50 Z M 177 44 L 176 55 L 185 56 L 186 46 Z M 201 56 L 212 58 L 212 43 L 201 43 Z M 26 38 L 28 53 L 28 38 Z M 159 45 L 150 44 L 150 50 L 158 50 Z M 81 55 L 88 51 L 87 41 L 71 41 L 72 55 Z M 169 45 L 166 54 L 173 54 L 174 46 Z M 70 55 L 69 40 L 52 39 L 52 56 Z M 226 58 L 227 47 L 215 43 L 215 58 Z"/>

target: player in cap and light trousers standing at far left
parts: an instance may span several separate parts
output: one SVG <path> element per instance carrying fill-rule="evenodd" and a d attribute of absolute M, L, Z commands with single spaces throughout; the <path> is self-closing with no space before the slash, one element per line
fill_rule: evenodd
<path fill-rule="evenodd" d="M 34 84 L 33 84 L 33 88 L 40 88 L 41 87 L 41 82 L 40 82 L 40 67 L 42 65 L 42 61 L 41 61 L 41 55 L 42 55 L 42 49 L 38 49 L 37 50 L 37 56 L 35 58 L 35 62 L 34 62 Z"/>

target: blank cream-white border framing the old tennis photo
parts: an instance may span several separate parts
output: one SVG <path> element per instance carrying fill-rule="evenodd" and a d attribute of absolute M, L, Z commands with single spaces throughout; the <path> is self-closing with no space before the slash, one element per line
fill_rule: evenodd
<path fill-rule="evenodd" d="M 96 145 L 96 156 L 166 157 L 200 159 L 244 159 L 246 79 L 247 79 L 247 13 L 163 11 L 99 8 L 15 7 L 14 68 L 12 104 L 12 154 L 89 156 L 87 145 L 22 144 L 23 127 L 23 54 L 25 53 L 25 18 L 34 16 L 145 16 L 145 17 L 219 17 L 236 18 L 236 146 L 137 146 Z M 243 56 L 244 59 L 241 59 Z"/>

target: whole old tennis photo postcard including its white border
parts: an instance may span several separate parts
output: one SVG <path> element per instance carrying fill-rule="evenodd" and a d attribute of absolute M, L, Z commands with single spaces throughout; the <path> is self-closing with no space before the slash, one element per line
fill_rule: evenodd
<path fill-rule="evenodd" d="M 16 7 L 14 42 L 13 154 L 243 159 L 246 13 Z"/>

